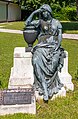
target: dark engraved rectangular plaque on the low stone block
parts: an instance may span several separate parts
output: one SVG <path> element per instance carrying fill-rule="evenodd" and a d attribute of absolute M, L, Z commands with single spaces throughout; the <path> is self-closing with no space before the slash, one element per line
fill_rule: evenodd
<path fill-rule="evenodd" d="M 31 104 L 33 89 L 10 89 L 4 90 L 0 96 L 0 104 L 15 105 L 15 104 Z"/>

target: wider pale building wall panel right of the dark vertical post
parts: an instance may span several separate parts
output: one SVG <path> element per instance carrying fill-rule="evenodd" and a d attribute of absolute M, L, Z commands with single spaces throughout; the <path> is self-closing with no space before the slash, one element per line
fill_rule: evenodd
<path fill-rule="evenodd" d="M 8 21 L 21 20 L 21 8 L 17 4 L 8 5 Z"/>

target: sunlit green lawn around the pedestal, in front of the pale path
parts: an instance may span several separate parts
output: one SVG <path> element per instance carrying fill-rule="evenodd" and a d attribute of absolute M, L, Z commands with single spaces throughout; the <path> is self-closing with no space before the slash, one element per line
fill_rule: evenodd
<path fill-rule="evenodd" d="M 0 33 L 0 88 L 7 88 L 11 67 L 13 66 L 13 52 L 15 47 L 25 47 L 22 35 Z M 14 114 L 0 116 L 0 119 L 77 119 L 78 118 L 78 80 L 75 80 L 78 66 L 78 41 L 66 40 L 62 46 L 69 53 L 69 73 L 73 77 L 75 90 L 68 91 L 67 96 L 49 100 L 45 104 L 42 100 L 37 102 L 37 114 Z"/>

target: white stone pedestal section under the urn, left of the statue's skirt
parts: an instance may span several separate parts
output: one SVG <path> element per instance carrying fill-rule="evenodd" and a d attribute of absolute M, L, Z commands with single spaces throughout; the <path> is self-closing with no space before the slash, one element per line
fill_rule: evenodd
<path fill-rule="evenodd" d="M 14 64 L 11 68 L 9 89 L 32 87 L 34 76 L 31 59 L 31 52 L 25 52 L 24 47 L 14 49 Z"/>

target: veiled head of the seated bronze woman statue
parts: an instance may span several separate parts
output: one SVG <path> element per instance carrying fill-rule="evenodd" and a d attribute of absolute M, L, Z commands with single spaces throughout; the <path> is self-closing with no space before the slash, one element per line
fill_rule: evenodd
<path fill-rule="evenodd" d="M 47 20 L 50 16 L 52 16 L 52 9 L 48 4 L 44 4 L 40 7 L 42 10 L 41 16 L 43 19 Z"/>

